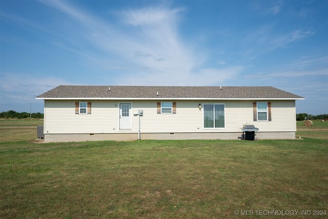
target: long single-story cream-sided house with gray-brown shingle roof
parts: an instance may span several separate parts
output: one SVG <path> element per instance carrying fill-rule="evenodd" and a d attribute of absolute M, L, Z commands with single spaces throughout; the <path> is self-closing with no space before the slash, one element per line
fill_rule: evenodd
<path fill-rule="evenodd" d="M 68 142 L 237 140 L 245 124 L 258 139 L 292 139 L 304 98 L 274 87 L 58 86 L 36 99 L 45 141 Z"/>

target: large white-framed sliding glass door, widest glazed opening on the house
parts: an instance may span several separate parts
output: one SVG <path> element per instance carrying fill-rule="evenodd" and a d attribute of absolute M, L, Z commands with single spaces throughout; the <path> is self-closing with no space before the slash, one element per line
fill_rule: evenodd
<path fill-rule="evenodd" d="M 225 128 L 224 104 L 204 104 L 204 128 Z"/>

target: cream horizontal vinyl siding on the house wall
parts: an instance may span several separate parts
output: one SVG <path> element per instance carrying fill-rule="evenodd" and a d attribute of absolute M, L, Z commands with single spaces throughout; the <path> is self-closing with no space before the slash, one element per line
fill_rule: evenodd
<path fill-rule="evenodd" d="M 88 100 L 86 100 L 88 101 Z M 175 102 L 173 99 L 172 102 Z M 131 115 L 140 117 L 142 133 L 241 132 L 243 124 L 253 124 L 259 132 L 296 131 L 295 101 L 271 101 L 272 122 L 253 121 L 253 101 L 224 101 L 224 129 L 203 128 L 203 108 L 213 101 L 176 101 L 178 113 L 157 114 L 157 101 L 132 101 Z M 119 130 L 119 101 L 92 101 L 92 114 L 75 114 L 75 101 L 45 101 L 45 133 L 137 133 L 138 116 L 132 116 L 132 129 Z"/>

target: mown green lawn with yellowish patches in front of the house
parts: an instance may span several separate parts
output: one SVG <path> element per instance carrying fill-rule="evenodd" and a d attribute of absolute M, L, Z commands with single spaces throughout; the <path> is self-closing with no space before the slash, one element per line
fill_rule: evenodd
<path fill-rule="evenodd" d="M 0 143 L 0 218 L 328 210 L 326 139 L 38 144 L 33 130 Z"/>

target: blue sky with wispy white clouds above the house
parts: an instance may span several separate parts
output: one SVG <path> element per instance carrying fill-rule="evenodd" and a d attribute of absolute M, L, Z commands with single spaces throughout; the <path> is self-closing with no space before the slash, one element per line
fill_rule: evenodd
<path fill-rule="evenodd" d="M 0 111 L 58 85 L 273 86 L 328 113 L 328 1 L 0 1 Z"/>

